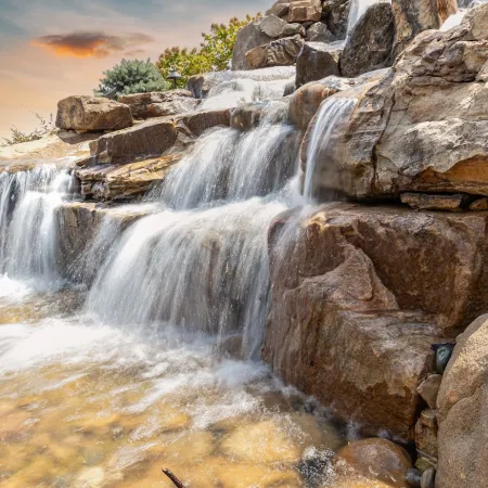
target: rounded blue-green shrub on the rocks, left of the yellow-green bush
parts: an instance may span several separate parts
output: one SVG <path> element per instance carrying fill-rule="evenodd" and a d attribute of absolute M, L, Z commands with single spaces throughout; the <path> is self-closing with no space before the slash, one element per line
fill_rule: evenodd
<path fill-rule="evenodd" d="M 160 72 L 150 60 L 121 60 L 120 64 L 103 74 L 105 77 L 100 80 L 99 89 L 95 90 L 98 97 L 110 94 L 117 99 L 123 94 L 168 89 Z"/>

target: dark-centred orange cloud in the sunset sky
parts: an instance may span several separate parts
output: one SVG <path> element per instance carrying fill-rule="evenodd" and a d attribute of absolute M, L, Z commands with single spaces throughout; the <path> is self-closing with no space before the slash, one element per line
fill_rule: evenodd
<path fill-rule="evenodd" d="M 75 31 L 38 37 L 31 43 L 59 56 L 107 57 L 119 53 L 130 55 L 141 52 L 141 44 L 153 41 L 151 36 L 142 33 L 111 36 L 101 31 Z"/>

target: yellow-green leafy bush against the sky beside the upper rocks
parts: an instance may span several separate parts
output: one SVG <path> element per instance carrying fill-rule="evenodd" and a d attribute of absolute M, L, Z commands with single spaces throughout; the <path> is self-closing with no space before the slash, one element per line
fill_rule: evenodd
<path fill-rule="evenodd" d="M 182 76 L 178 81 L 179 88 L 184 88 L 190 76 L 229 69 L 237 31 L 260 15 L 259 13 L 255 17 L 247 15 L 244 21 L 234 17 L 228 25 L 213 24 L 210 33 L 202 34 L 204 40 L 200 49 L 189 50 L 178 47 L 167 49 L 159 56 L 156 66 L 164 78 L 168 77 L 171 69 L 177 69 Z"/>

